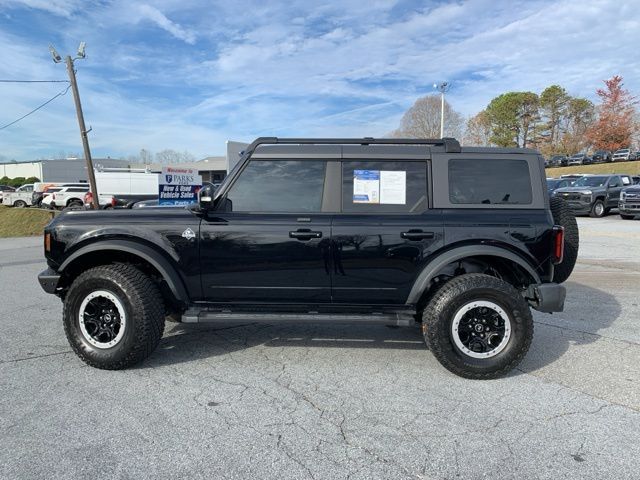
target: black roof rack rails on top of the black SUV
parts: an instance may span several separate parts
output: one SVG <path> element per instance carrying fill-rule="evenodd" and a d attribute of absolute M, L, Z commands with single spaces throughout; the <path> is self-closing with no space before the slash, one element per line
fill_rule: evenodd
<path fill-rule="evenodd" d="M 251 155 L 260 145 L 442 145 L 446 153 L 460 153 L 460 142 L 455 138 L 278 138 L 259 137 L 242 152 Z"/>

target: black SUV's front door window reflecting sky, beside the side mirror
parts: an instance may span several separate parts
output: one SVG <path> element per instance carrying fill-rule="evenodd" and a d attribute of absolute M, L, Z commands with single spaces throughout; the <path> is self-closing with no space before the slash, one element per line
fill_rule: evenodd
<path fill-rule="evenodd" d="M 327 162 L 251 160 L 227 195 L 234 212 L 320 212 Z"/>

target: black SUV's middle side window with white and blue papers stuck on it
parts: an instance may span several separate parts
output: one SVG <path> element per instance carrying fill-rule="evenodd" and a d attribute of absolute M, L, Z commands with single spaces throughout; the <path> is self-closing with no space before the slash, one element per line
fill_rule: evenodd
<path fill-rule="evenodd" d="M 426 162 L 342 162 L 343 212 L 421 213 L 426 208 Z"/>

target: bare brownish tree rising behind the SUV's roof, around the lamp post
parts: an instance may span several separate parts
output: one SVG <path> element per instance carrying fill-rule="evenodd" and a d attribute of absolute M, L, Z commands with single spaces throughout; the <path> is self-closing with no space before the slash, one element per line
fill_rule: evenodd
<path fill-rule="evenodd" d="M 464 120 L 449 102 L 444 102 L 444 134 L 460 137 Z M 427 95 L 419 98 L 405 112 L 400 128 L 391 133 L 393 137 L 439 138 L 440 137 L 440 96 Z"/>

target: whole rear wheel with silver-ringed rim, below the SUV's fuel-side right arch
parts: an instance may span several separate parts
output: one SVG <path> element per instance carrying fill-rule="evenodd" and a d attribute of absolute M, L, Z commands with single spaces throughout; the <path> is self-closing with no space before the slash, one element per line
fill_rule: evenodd
<path fill-rule="evenodd" d="M 484 274 L 447 282 L 424 310 L 425 342 L 447 370 L 465 378 L 505 375 L 524 358 L 533 318 L 520 293 Z"/>

